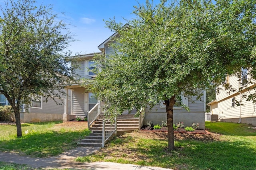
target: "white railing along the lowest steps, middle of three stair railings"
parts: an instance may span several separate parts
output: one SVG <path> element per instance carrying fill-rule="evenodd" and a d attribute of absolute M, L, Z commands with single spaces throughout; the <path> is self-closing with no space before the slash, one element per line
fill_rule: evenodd
<path fill-rule="evenodd" d="M 105 146 L 106 141 L 115 133 L 117 133 L 116 117 L 114 122 L 111 119 L 102 121 L 102 147 Z"/>

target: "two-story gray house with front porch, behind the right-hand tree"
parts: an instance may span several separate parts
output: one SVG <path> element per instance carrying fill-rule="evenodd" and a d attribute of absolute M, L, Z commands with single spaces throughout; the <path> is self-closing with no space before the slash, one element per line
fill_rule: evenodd
<path fill-rule="evenodd" d="M 112 43 L 112 37 L 118 36 L 118 33 L 114 33 L 110 38 L 106 39 L 103 43 L 98 46 L 98 49 L 101 51 L 100 53 L 96 53 L 97 55 L 108 55 L 113 52 L 112 48 L 109 46 Z M 76 56 L 76 59 L 79 62 L 80 68 L 76 70 L 78 74 L 78 82 L 72 84 L 71 86 L 67 86 L 66 90 L 71 90 L 71 115 L 66 113 L 68 110 L 68 98 L 65 100 L 65 111 L 63 115 L 63 121 L 69 121 L 74 119 L 75 115 L 80 117 L 88 116 L 88 112 L 92 111 L 92 107 L 94 107 L 97 103 L 99 103 L 98 111 L 102 113 L 102 104 L 100 101 L 97 101 L 96 98 L 93 97 L 92 92 L 86 91 L 85 88 L 80 86 L 80 78 L 93 78 L 95 74 L 90 72 L 92 70 L 92 58 L 95 54 L 86 54 Z M 182 98 L 182 103 L 186 104 L 190 111 L 186 111 L 179 105 L 180 102 L 176 102 L 177 106 L 174 107 L 174 123 L 184 122 L 185 126 L 191 126 L 192 123 L 199 123 L 200 129 L 205 129 L 205 92 L 201 97 L 201 100 L 196 100 L 196 97 L 192 97 L 192 101 L 188 101 L 185 98 Z M 147 121 L 152 121 L 153 124 L 162 124 L 162 121 L 166 121 L 167 113 L 165 109 L 165 105 L 161 102 L 159 105 L 156 105 L 154 108 L 146 108 L 144 115 L 143 124 L 146 125 Z M 135 113 L 135 110 L 132 111 L 132 114 Z M 123 114 L 128 114 L 127 111 L 124 111 Z"/>

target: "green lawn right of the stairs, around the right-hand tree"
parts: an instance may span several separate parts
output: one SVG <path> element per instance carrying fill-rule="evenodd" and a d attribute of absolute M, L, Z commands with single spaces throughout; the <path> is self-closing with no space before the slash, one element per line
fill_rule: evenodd
<path fill-rule="evenodd" d="M 126 134 L 116 137 L 107 147 L 79 162 L 118 162 L 173 169 L 256 169 L 256 131 L 247 124 L 206 122 L 210 132 L 222 134 L 220 140 L 177 140 L 168 151 L 166 139 L 146 139 Z"/>

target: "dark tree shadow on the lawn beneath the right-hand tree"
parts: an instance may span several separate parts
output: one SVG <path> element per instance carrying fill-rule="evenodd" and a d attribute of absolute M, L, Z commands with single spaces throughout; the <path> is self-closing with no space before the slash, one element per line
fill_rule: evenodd
<path fill-rule="evenodd" d="M 160 142 L 162 140 L 153 140 Z M 141 144 L 140 144 L 141 145 Z M 138 145 L 133 150 L 142 160 L 154 166 L 160 164 L 164 168 L 178 169 L 256 169 L 256 148 L 252 143 L 241 141 L 202 141 L 182 140 L 176 142 L 174 151 L 167 146 L 149 145 L 147 149 Z"/>

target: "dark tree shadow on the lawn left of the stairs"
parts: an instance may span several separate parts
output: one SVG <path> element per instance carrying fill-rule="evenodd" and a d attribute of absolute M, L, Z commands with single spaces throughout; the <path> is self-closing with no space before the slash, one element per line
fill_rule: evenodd
<path fill-rule="evenodd" d="M 73 132 L 47 131 L 40 133 L 32 131 L 21 138 L 2 141 L 0 150 L 17 151 L 21 154 L 40 158 L 56 156 L 77 147 L 77 143 L 89 134 L 88 129 Z"/>

